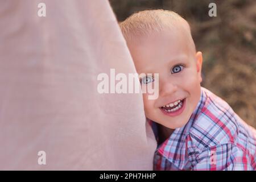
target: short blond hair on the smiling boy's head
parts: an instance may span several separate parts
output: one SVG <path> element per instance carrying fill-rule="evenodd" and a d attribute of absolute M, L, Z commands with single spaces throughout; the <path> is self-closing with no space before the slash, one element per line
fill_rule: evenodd
<path fill-rule="evenodd" d="M 119 23 L 122 34 L 126 39 L 126 42 L 134 41 L 134 37 L 142 35 L 150 35 L 151 32 L 160 32 L 164 28 L 176 28 L 181 27 L 181 31 L 188 36 L 189 42 L 193 42 L 191 29 L 188 22 L 182 18 L 179 14 L 170 10 L 144 10 L 134 13 L 126 20 Z"/>

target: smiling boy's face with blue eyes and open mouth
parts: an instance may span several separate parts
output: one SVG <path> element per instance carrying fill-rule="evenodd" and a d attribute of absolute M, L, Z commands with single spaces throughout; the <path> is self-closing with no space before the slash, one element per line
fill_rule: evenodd
<path fill-rule="evenodd" d="M 159 73 L 159 97 L 143 94 L 146 117 L 170 129 L 184 126 L 200 100 L 201 52 L 179 31 L 154 32 L 128 47 L 139 74 Z M 142 78 L 142 84 L 154 81 Z"/>

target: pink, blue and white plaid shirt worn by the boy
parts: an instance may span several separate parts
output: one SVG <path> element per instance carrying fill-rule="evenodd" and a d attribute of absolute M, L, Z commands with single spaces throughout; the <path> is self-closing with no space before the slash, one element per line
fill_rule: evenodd
<path fill-rule="evenodd" d="M 149 122 L 158 140 L 156 123 Z M 203 87 L 188 123 L 159 144 L 154 156 L 154 170 L 255 169 L 255 129 Z"/>

